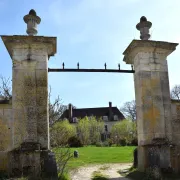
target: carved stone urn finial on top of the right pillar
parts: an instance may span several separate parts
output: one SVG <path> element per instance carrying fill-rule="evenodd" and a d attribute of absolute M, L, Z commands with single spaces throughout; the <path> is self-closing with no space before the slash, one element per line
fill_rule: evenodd
<path fill-rule="evenodd" d="M 150 38 L 149 29 L 151 28 L 152 23 L 147 21 L 145 16 L 142 16 L 140 22 L 136 25 L 137 30 L 140 31 L 140 39 L 148 40 Z"/>

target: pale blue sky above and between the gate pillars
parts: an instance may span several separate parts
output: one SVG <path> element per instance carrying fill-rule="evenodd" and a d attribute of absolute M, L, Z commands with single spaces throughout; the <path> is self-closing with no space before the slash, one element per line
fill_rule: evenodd
<path fill-rule="evenodd" d="M 180 42 L 179 0 L 0 0 L 0 34 L 26 35 L 23 16 L 35 9 L 41 17 L 38 35 L 57 37 L 57 54 L 49 67 L 131 69 L 123 51 L 139 39 L 135 26 L 141 16 L 152 22 L 152 40 Z M 12 76 L 12 61 L 0 41 L 0 74 Z M 168 57 L 170 87 L 180 84 L 180 47 Z M 49 73 L 52 98 L 78 108 L 120 107 L 133 100 L 132 74 Z"/>

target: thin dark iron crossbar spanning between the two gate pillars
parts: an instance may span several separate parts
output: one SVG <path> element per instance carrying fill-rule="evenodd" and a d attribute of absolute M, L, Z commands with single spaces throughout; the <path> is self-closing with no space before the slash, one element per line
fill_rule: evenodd
<path fill-rule="evenodd" d="M 54 69 L 48 68 L 48 72 L 109 72 L 109 73 L 134 73 L 134 70 L 123 70 L 123 69 Z"/>

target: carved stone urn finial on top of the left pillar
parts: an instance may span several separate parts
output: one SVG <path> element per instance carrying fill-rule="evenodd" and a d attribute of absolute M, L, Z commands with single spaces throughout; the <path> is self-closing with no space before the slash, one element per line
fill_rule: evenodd
<path fill-rule="evenodd" d="M 29 14 L 24 16 L 24 22 L 27 24 L 27 34 L 30 36 L 34 36 L 38 33 L 37 24 L 41 22 L 41 18 L 36 15 L 36 11 L 31 9 Z"/>

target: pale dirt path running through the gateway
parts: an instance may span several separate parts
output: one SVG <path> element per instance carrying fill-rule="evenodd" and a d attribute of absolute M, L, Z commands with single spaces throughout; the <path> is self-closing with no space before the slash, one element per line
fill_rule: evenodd
<path fill-rule="evenodd" d="M 72 170 L 70 175 L 71 180 L 91 180 L 93 172 L 100 171 L 103 175 L 107 175 L 110 180 L 129 180 L 122 177 L 117 171 L 131 166 L 131 163 L 91 165 Z"/>

